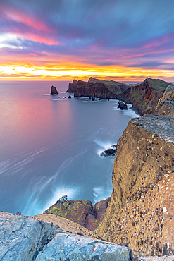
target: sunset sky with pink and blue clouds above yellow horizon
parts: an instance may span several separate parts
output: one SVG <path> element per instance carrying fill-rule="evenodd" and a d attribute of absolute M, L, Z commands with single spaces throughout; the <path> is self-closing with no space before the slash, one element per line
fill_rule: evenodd
<path fill-rule="evenodd" d="M 173 0 L 0 0 L 0 80 L 174 82 Z"/>

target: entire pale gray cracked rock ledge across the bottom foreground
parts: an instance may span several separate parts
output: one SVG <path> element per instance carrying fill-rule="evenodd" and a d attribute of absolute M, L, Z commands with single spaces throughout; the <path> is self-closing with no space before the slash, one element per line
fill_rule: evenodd
<path fill-rule="evenodd" d="M 136 260 L 130 248 L 67 233 L 41 220 L 0 212 L 1 261 Z"/>

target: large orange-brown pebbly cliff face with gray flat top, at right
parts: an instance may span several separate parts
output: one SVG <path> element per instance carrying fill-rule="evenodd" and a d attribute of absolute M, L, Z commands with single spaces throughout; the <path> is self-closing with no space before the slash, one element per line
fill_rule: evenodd
<path fill-rule="evenodd" d="M 173 126 L 174 116 L 151 114 L 132 119 L 116 147 L 113 193 L 97 235 L 107 241 L 131 245 L 139 255 L 154 255 L 154 250 L 160 255 L 171 254 L 174 250 L 173 218 L 166 216 L 174 214 L 172 201 L 168 210 L 173 190 L 165 187 L 171 197 L 163 190 L 168 177 L 173 188 Z M 151 218 L 153 224 L 152 220 L 148 223 Z"/>

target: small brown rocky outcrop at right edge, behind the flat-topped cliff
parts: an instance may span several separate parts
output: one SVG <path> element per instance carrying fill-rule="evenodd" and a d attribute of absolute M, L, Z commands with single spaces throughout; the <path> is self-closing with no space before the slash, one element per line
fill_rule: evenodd
<path fill-rule="evenodd" d="M 154 114 L 174 116 L 174 85 L 171 84 L 163 93 L 156 106 Z"/>

